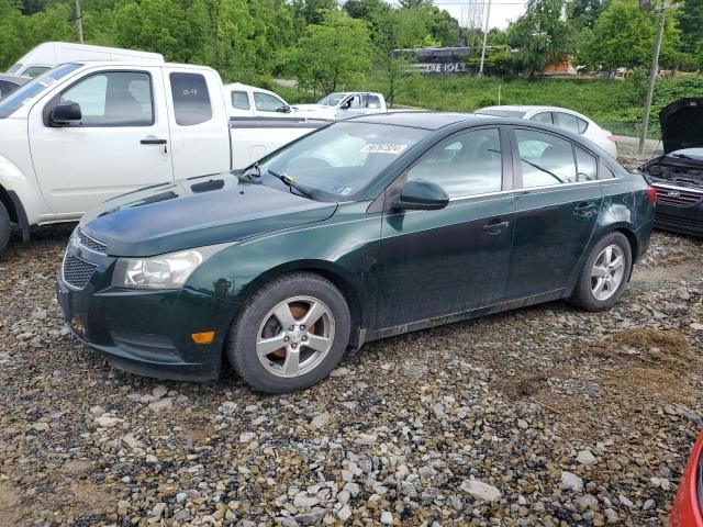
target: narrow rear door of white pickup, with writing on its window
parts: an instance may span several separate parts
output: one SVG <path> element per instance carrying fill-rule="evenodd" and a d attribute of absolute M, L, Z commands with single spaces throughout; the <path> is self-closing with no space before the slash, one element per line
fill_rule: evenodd
<path fill-rule="evenodd" d="M 230 115 L 220 77 L 210 70 L 164 68 L 176 179 L 230 170 Z"/>

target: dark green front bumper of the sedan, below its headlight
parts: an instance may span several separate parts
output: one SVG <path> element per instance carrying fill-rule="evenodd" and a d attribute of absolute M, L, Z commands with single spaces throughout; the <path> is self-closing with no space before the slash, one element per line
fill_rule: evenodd
<path fill-rule="evenodd" d="M 60 276 L 56 292 L 72 333 L 112 366 L 158 379 L 219 377 L 233 304 L 188 289 L 127 291 L 88 283 L 77 291 Z M 211 344 L 191 337 L 211 330 Z"/>

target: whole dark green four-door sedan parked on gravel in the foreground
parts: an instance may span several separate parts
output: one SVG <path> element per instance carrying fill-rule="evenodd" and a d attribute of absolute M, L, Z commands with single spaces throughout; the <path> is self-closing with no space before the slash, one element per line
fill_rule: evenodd
<path fill-rule="evenodd" d="M 115 367 L 310 386 L 364 343 L 567 299 L 606 310 L 647 247 L 654 189 L 539 123 L 391 113 L 339 121 L 235 173 L 103 203 L 57 280 Z"/>

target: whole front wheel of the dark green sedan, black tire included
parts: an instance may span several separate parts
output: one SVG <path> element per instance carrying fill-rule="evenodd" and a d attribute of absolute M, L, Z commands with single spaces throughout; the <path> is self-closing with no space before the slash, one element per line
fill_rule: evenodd
<path fill-rule="evenodd" d="M 349 343 L 349 309 L 332 282 L 310 272 L 272 280 L 243 305 L 226 345 L 254 390 L 284 393 L 325 379 Z"/>

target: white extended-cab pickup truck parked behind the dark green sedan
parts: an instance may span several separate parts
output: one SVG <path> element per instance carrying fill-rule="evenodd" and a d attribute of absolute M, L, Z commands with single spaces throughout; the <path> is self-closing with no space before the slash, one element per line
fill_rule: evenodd
<path fill-rule="evenodd" d="M 0 101 L 0 253 L 11 224 L 78 220 L 116 194 L 244 168 L 323 126 L 230 119 L 202 66 L 69 63 Z"/>

